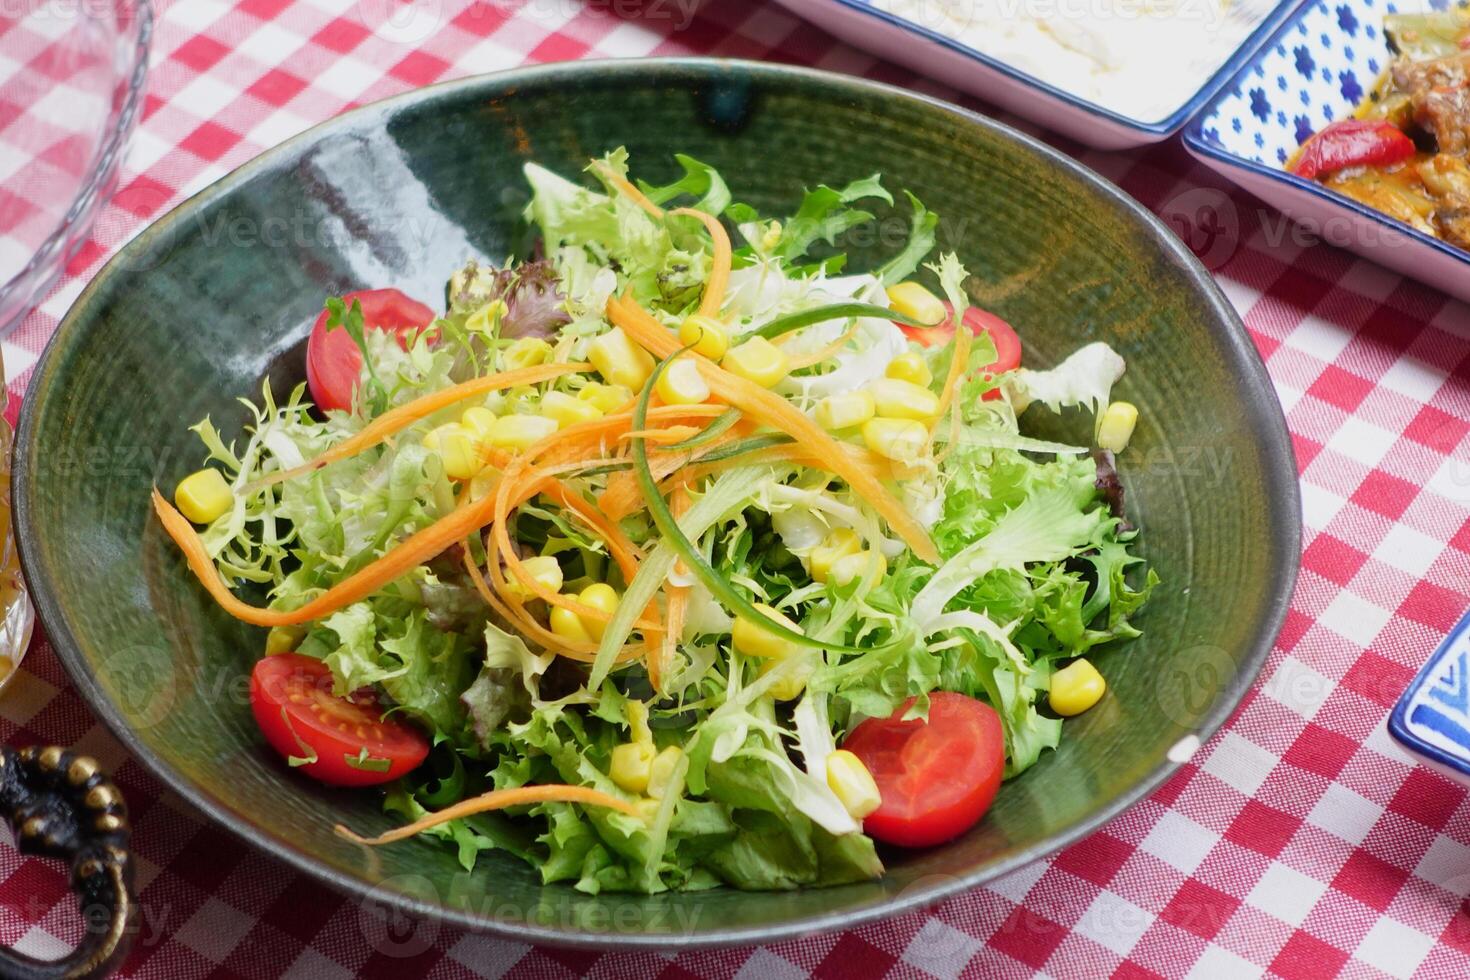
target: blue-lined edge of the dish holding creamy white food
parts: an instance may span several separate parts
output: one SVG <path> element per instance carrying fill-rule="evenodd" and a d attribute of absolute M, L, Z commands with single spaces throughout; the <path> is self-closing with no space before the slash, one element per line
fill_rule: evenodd
<path fill-rule="evenodd" d="M 1135 132 L 1144 132 L 1151 137 L 1158 137 L 1160 140 L 1163 140 L 1177 132 L 1179 128 L 1183 126 L 1186 122 L 1189 122 L 1192 116 L 1200 113 L 1201 107 L 1204 107 L 1205 103 L 1213 101 L 1227 84 L 1235 81 L 1236 76 L 1239 76 L 1241 72 L 1255 60 L 1260 50 L 1267 44 L 1267 41 L 1273 40 L 1279 32 L 1279 29 L 1291 24 L 1295 19 L 1295 15 L 1298 15 L 1301 9 L 1310 4 L 1313 0 L 1280 0 L 1280 3 L 1277 3 L 1269 15 L 1266 15 L 1266 18 L 1260 22 L 1260 25 L 1254 31 L 1251 31 L 1251 34 L 1241 43 L 1241 46 L 1235 48 L 1235 51 L 1230 54 L 1230 57 L 1225 60 L 1225 63 L 1219 68 L 1219 71 L 1216 71 L 1216 73 L 1211 75 L 1204 82 L 1204 85 L 1201 85 L 1195 91 L 1195 94 L 1189 97 L 1189 100 L 1185 104 L 1182 104 L 1179 109 L 1176 109 L 1173 113 L 1170 113 L 1169 116 L 1166 116 L 1158 122 L 1142 122 L 1141 119 L 1125 116 L 1122 113 L 1113 112 L 1111 109 L 1104 109 L 1102 106 L 1098 106 L 1094 101 L 1088 101 L 1086 98 L 1073 96 L 1064 88 L 1057 88 L 1055 85 L 1044 82 L 1039 78 L 1035 78 L 1033 75 L 1028 75 L 1019 68 L 1013 68 L 1005 62 L 992 57 L 991 54 L 985 54 L 983 51 L 976 51 L 973 47 L 961 44 L 953 37 L 939 34 L 938 31 L 932 31 L 923 25 L 914 24 L 913 21 L 901 18 L 897 13 L 889 13 L 888 10 L 879 10 L 878 7 L 873 7 L 872 4 L 866 3 L 866 0 L 828 0 L 828 1 L 841 4 L 844 7 L 848 7 L 850 10 L 857 10 L 870 18 L 878 18 L 885 24 L 891 24 L 904 31 L 908 31 L 910 34 L 916 34 L 928 41 L 947 47 L 951 51 L 956 51 L 957 54 L 964 54 L 970 60 L 980 62 L 986 68 L 997 71 L 1001 75 L 1005 75 L 1007 78 L 1017 81 L 1023 85 L 1029 85 L 1030 88 L 1044 91 L 1053 98 L 1058 98 L 1067 103 L 1069 106 L 1088 112 L 1094 116 L 1108 119 L 1110 122 L 1114 122 Z"/>

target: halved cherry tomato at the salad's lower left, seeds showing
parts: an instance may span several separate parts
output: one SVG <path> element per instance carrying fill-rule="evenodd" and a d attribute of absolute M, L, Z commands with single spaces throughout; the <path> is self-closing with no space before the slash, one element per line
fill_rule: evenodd
<path fill-rule="evenodd" d="M 387 783 L 417 768 L 429 739 L 397 718 L 384 718 L 378 699 L 332 693 L 332 671 L 315 657 L 265 657 L 250 674 L 250 710 L 270 748 L 316 761 L 298 768 L 332 786 Z"/>

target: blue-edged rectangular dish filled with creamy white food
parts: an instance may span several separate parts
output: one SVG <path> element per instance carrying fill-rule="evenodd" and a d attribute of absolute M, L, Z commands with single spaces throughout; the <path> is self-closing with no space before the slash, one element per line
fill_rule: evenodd
<path fill-rule="evenodd" d="M 822 29 L 1111 150 L 1175 134 L 1301 0 L 778 0 Z"/>

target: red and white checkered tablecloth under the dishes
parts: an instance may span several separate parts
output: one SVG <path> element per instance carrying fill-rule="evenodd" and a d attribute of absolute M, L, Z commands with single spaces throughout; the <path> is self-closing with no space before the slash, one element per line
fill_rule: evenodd
<path fill-rule="evenodd" d="M 729 0 L 175 0 L 121 191 L 4 342 L 12 389 L 87 279 L 160 212 L 351 106 L 525 62 L 726 54 L 944 90 L 784 10 Z M 3 112 L 4 103 L 0 103 Z M 1266 359 L 1301 466 L 1291 616 L 1230 724 L 1091 839 L 925 912 L 759 949 L 564 952 L 381 923 L 206 824 L 107 736 L 38 644 L 0 738 L 97 755 L 132 805 L 146 914 L 129 977 L 1467 977 L 1470 801 L 1385 732 L 1470 607 L 1470 309 L 1326 245 L 1177 145 L 1064 150 L 1166 215 Z M 78 934 L 62 870 L 0 851 L 0 940 Z"/>

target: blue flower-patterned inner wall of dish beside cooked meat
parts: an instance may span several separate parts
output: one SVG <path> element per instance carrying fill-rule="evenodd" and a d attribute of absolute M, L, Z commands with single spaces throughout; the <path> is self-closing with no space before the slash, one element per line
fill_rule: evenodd
<path fill-rule="evenodd" d="M 1392 56 L 1388 13 L 1444 10 L 1446 0 L 1311 0 L 1236 79 L 1200 134 L 1226 153 L 1282 166 L 1313 132 L 1352 115 Z"/>

